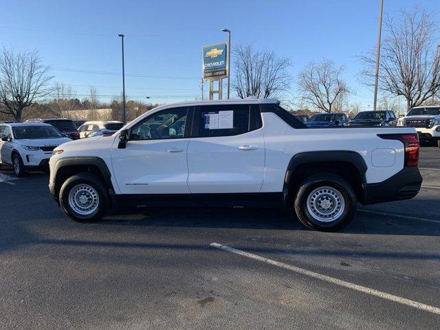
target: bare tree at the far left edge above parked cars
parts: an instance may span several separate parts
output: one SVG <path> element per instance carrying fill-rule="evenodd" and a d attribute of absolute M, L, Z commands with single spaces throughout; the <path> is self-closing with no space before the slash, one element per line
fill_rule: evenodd
<path fill-rule="evenodd" d="M 53 78 L 41 63 L 39 53 L 6 50 L 0 54 L 0 102 L 2 113 L 21 120 L 25 107 L 50 94 L 47 83 Z"/>

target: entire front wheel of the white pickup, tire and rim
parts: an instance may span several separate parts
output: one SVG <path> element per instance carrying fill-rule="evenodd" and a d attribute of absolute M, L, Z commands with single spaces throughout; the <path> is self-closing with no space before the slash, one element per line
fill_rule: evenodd
<path fill-rule="evenodd" d="M 60 190 L 60 204 L 70 219 L 77 222 L 99 221 L 107 209 L 107 188 L 94 173 L 69 177 Z"/>

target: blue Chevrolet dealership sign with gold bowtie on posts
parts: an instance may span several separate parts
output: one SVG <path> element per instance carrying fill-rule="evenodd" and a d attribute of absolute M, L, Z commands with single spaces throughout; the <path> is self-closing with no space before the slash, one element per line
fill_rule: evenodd
<path fill-rule="evenodd" d="M 228 76 L 227 43 L 203 46 L 203 78 L 222 78 Z"/>

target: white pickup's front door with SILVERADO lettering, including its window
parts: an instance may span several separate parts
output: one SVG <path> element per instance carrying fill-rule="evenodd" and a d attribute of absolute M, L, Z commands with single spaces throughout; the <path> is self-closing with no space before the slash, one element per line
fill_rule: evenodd
<path fill-rule="evenodd" d="M 130 129 L 126 148 L 115 139 L 111 162 L 122 194 L 189 193 L 188 113 L 188 107 L 175 107 L 148 115 Z"/>

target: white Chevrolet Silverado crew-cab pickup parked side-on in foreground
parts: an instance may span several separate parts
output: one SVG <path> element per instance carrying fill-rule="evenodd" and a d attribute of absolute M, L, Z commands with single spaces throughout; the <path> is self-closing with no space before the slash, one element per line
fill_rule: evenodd
<path fill-rule="evenodd" d="M 277 100 L 186 102 L 58 146 L 49 188 L 80 222 L 129 206 L 284 207 L 336 230 L 358 201 L 417 195 L 418 157 L 412 127 L 309 129 Z"/>

